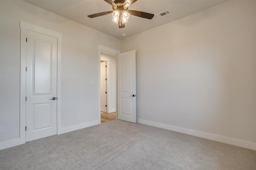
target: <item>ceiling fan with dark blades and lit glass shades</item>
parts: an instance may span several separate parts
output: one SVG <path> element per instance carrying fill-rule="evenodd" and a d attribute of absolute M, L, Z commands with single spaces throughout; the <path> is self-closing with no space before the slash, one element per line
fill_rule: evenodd
<path fill-rule="evenodd" d="M 112 21 L 114 21 L 115 23 L 118 23 L 119 28 L 124 28 L 125 26 L 124 24 L 128 22 L 128 18 L 130 17 L 130 15 L 146 18 L 149 20 L 151 20 L 154 17 L 154 14 L 150 14 L 147 12 L 128 10 L 128 7 L 132 5 L 134 2 L 136 2 L 137 0 L 115 0 L 115 1 L 104 0 L 104 1 L 110 4 L 111 6 L 113 6 L 112 7 L 113 10 L 88 15 L 89 18 L 95 18 L 95 17 L 104 16 L 112 13 L 112 16 L 113 16 Z"/>

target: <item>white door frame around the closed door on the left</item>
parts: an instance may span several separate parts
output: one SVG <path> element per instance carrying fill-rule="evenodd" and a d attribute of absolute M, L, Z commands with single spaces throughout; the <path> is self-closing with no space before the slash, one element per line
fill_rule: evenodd
<path fill-rule="evenodd" d="M 57 38 L 57 134 L 61 129 L 61 40 L 62 33 L 20 21 L 20 144 L 26 143 L 26 34 L 27 30 Z"/>

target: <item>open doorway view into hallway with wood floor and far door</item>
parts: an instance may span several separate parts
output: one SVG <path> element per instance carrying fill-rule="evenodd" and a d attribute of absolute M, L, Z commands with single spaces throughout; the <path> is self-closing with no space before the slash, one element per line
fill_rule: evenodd
<path fill-rule="evenodd" d="M 100 51 L 100 117 L 101 123 L 116 116 L 116 57 L 114 53 Z"/>

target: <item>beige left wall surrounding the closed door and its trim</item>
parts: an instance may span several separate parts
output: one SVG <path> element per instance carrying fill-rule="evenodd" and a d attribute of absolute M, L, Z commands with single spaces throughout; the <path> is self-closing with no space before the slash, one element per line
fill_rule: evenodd
<path fill-rule="evenodd" d="M 24 1 L 1 1 L 0 7 L 1 142 L 20 136 L 20 21 L 62 33 L 62 127 L 69 131 L 97 121 L 98 45 L 120 50 L 120 40 Z"/>

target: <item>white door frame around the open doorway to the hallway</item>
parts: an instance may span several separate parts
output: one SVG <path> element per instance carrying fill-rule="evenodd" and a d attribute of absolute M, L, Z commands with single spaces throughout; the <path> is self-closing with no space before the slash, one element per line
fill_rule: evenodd
<path fill-rule="evenodd" d="M 99 82 L 98 83 L 98 123 L 99 124 L 100 124 L 100 51 L 106 51 L 108 53 L 113 53 L 116 55 L 121 53 L 121 51 L 119 50 L 105 47 L 103 45 L 98 45 L 98 82 Z M 116 64 L 117 64 L 117 57 L 116 57 Z M 116 69 L 117 69 L 117 66 L 116 66 Z M 117 80 L 117 74 L 116 74 L 116 80 Z M 116 87 L 117 87 L 117 81 L 116 81 Z M 117 90 L 116 90 L 116 99 L 117 99 Z M 117 119 L 117 102 L 116 102 L 116 119 Z"/>

